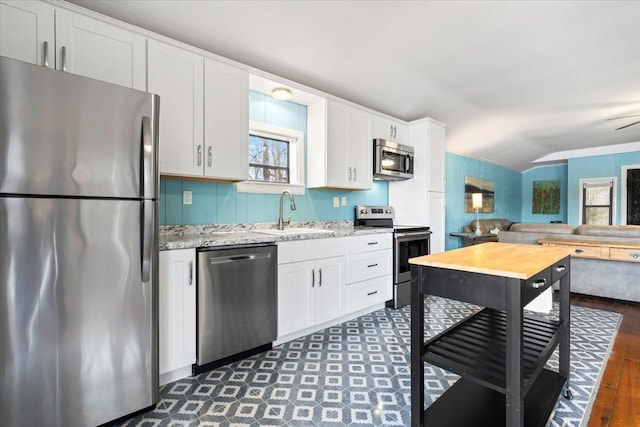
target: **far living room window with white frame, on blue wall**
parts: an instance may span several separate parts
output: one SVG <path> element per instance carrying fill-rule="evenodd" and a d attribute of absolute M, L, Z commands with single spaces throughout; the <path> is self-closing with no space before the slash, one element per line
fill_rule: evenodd
<path fill-rule="evenodd" d="M 615 178 L 580 180 L 582 224 L 612 225 L 615 216 Z"/>

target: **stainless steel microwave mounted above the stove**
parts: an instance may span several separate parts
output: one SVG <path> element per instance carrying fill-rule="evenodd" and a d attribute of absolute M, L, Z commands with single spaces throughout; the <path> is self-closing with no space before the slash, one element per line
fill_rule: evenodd
<path fill-rule="evenodd" d="M 374 139 L 373 178 L 386 181 L 413 178 L 413 147 Z"/>

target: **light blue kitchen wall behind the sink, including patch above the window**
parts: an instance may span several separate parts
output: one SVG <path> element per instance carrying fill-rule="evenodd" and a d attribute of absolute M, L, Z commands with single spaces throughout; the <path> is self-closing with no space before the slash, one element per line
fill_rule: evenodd
<path fill-rule="evenodd" d="M 307 108 L 249 93 L 249 119 L 307 133 Z M 191 205 L 182 204 L 182 192 L 192 192 Z M 347 197 L 347 206 L 334 208 L 333 197 Z M 229 224 L 276 222 L 278 194 L 238 193 L 234 184 L 182 179 L 160 179 L 160 224 Z M 295 196 L 297 210 L 292 221 L 352 220 L 354 206 L 386 205 L 387 182 L 374 181 L 368 191 L 310 190 Z M 287 211 L 288 212 L 288 209 Z M 288 213 L 285 213 L 288 215 Z"/>

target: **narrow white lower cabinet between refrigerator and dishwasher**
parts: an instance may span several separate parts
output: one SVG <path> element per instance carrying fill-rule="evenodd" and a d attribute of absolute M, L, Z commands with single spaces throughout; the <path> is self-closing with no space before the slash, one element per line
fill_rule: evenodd
<path fill-rule="evenodd" d="M 196 361 L 196 252 L 160 252 L 160 375 L 191 368 Z M 161 377 L 162 381 L 162 377 Z"/>

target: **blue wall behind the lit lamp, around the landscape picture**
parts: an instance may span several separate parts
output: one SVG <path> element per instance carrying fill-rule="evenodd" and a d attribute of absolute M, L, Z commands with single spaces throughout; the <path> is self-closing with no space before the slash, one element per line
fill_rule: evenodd
<path fill-rule="evenodd" d="M 494 181 L 494 212 L 480 213 L 480 219 L 507 218 L 514 222 L 520 221 L 522 215 L 522 174 L 520 172 L 452 153 L 446 153 L 445 162 L 447 178 L 445 248 L 447 250 L 460 247 L 460 238 L 451 237 L 449 233 L 462 231 L 465 225 L 476 219 L 475 213 L 464 211 L 465 176 Z"/>

